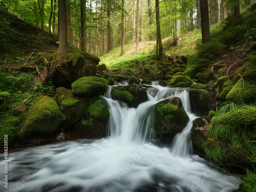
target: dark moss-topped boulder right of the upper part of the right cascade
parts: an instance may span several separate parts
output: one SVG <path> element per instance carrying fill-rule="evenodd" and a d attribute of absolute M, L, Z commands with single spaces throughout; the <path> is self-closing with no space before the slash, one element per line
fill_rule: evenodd
<path fill-rule="evenodd" d="M 207 116 L 212 108 L 209 92 L 203 89 L 190 89 L 189 101 L 191 111 L 199 116 Z"/>

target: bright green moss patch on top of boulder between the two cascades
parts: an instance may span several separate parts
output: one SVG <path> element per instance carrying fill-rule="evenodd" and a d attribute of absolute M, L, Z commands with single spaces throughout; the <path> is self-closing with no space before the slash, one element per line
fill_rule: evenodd
<path fill-rule="evenodd" d="M 174 118 L 173 112 L 176 111 L 176 107 L 174 104 L 171 104 L 171 103 L 167 103 L 167 104 L 162 103 L 162 104 L 156 105 L 156 110 L 163 117 L 165 122 L 167 122 L 172 118 Z"/>

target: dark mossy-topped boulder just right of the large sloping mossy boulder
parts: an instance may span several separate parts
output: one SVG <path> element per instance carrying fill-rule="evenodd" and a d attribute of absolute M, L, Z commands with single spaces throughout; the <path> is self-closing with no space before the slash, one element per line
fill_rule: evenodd
<path fill-rule="evenodd" d="M 63 129 L 67 129 L 70 125 L 77 122 L 88 110 L 89 99 L 74 97 L 62 100 L 59 104 L 62 114 L 65 115 L 65 120 L 61 123 Z"/>

